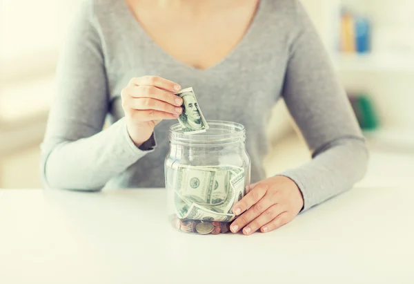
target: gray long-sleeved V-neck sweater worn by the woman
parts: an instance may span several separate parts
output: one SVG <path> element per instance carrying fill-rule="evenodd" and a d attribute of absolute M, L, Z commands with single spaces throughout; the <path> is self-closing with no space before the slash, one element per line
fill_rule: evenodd
<path fill-rule="evenodd" d="M 244 124 L 252 182 L 266 178 L 266 122 L 283 97 L 313 159 L 278 174 L 297 183 L 304 210 L 351 189 L 364 176 L 364 137 L 299 1 L 262 0 L 233 51 L 199 70 L 157 46 L 124 0 L 86 0 L 57 68 L 55 100 L 41 144 L 46 187 L 94 191 L 165 186 L 168 128 L 177 120 L 161 122 L 137 148 L 123 118 L 121 89 L 132 77 L 144 75 L 193 86 L 207 119 Z M 110 126 L 103 130 L 106 119 Z"/>

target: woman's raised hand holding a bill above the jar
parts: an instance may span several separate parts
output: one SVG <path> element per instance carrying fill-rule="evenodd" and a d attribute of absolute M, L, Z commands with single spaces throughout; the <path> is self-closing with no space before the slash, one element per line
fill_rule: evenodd
<path fill-rule="evenodd" d="M 126 126 L 132 141 L 141 146 L 161 120 L 175 120 L 182 112 L 181 87 L 155 76 L 132 78 L 121 92 Z"/>

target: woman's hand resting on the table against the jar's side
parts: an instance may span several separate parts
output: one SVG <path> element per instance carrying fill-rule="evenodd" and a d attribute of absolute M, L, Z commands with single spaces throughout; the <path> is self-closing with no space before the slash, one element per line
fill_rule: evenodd
<path fill-rule="evenodd" d="M 258 229 L 262 233 L 273 231 L 293 220 L 304 206 L 301 191 L 293 180 L 284 176 L 252 184 L 247 191 L 233 208 L 239 216 L 230 227 L 233 233 L 240 229 L 245 235 Z"/>

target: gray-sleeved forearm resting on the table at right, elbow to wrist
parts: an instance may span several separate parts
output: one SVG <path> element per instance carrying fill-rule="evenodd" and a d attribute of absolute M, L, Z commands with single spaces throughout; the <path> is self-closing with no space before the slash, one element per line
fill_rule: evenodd
<path fill-rule="evenodd" d="M 360 138 L 335 140 L 324 147 L 313 160 L 281 173 L 296 182 L 304 197 L 302 211 L 351 189 L 364 177 L 368 149 Z"/>

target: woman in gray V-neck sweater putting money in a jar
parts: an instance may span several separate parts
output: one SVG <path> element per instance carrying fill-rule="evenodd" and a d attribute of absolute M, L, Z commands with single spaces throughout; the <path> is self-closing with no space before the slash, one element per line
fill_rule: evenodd
<path fill-rule="evenodd" d="M 366 171 L 364 138 L 298 0 L 83 1 L 57 74 L 48 187 L 164 187 L 181 86 L 197 90 L 206 117 L 246 126 L 256 183 L 235 205 L 233 232 L 272 231 Z M 263 122 L 281 97 L 313 160 L 265 179 Z"/>

